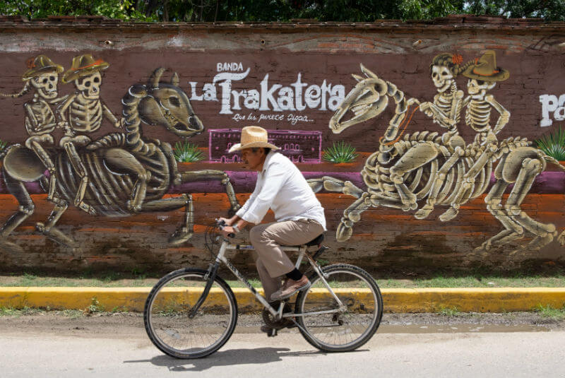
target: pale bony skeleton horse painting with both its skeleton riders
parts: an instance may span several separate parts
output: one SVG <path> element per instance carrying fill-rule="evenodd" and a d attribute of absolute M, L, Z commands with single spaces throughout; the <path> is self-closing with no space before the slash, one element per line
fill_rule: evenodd
<path fill-rule="evenodd" d="M 314 191 L 340 192 L 355 198 L 345 209 L 336 231 L 339 242 L 349 240 L 355 223 L 369 208 L 388 207 L 413 212 L 417 219 L 427 218 L 434 206 L 447 207 L 439 215 L 441 222 L 455 219 L 460 206 L 487 193 L 484 202 L 489 213 L 503 226 L 489 237 L 477 252 L 516 245 L 511 252 L 537 250 L 557 236 L 552 223 L 542 223 L 523 210 L 522 203 L 535 177 L 547 163 L 565 167 L 520 136 L 499 140 L 497 134 L 510 122 L 511 114 L 489 93 L 510 73 L 496 62 L 493 50 L 484 51 L 463 63 L 458 54 L 439 54 L 432 60 L 429 73 L 436 88 L 433 102 L 406 98 L 397 86 L 361 64 L 364 76 L 353 77 L 357 85 L 347 94 L 329 122 L 334 134 L 378 117 L 393 103 L 395 111 L 379 139 L 379 150 L 367 158 L 361 176 L 367 190 L 352 182 L 326 176 L 309 179 Z M 456 83 L 463 76 L 466 94 Z M 405 134 L 413 114 L 420 110 L 430 121 L 446 129 L 443 134 L 415 131 Z M 472 129 L 475 138 L 466 143 L 459 129 Z M 495 182 L 489 188 L 494 170 Z M 503 195 L 510 185 L 506 201 Z M 528 242 L 521 240 L 526 238 Z M 561 233 L 559 242 L 564 244 Z"/>

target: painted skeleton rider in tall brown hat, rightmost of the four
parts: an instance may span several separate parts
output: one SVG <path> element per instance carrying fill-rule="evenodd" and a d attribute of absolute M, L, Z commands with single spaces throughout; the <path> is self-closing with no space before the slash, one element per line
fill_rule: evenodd
<path fill-rule="evenodd" d="M 510 112 L 500 105 L 493 95 L 487 95 L 487 92 L 492 90 L 496 83 L 510 77 L 509 71 L 496 66 L 496 54 L 493 50 L 484 52 L 475 64 L 463 71 L 463 76 L 469 78 L 467 83 L 469 95 L 463 100 L 465 124 L 477 131 L 475 141 L 465 148 L 465 155 L 472 154 L 478 158 L 463 176 L 463 184 L 451 202 L 451 207 L 439 216 L 439 219 L 444 222 L 455 218 L 460 204 L 470 198 L 475 177 L 499 150 L 496 134 L 504 129 L 510 119 Z M 500 114 L 494 129 L 490 126 L 492 109 Z"/>

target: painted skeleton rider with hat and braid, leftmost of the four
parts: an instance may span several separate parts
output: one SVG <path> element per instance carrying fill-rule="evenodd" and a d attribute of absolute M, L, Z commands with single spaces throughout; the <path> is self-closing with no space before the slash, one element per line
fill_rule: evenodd
<path fill-rule="evenodd" d="M 64 101 L 67 96 L 58 98 L 57 84 L 59 83 L 59 73 L 63 71 L 63 66 L 55 64 L 54 61 L 45 55 L 38 55 L 28 59 L 28 71 L 25 71 L 22 80 L 25 82 L 22 90 L 18 93 L 6 95 L 4 97 L 19 98 L 31 89 L 34 89 L 32 100 L 23 103 L 25 109 L 25 130 L 29 137 L 25 140 L 25 146 L 33 150 L 42 161 L 43 165 L 49 170 L 49 189 L 47 189 L 47 200 L 57 202 L 55 198 L 55 188 L 57 187 L 55 165 L 51 156 L 45 148 L 54 145 L 51 133 L 55 127 L 61 126 L 53 112 L 53 108 Z"/>

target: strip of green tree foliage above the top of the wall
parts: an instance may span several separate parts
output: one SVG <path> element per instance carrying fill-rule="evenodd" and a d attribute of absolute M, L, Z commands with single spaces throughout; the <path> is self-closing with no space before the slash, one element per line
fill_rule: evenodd
<path fill-rule="evenodd" d="M 99 15 L 138 21 L 373 22 L 453 13 L 565 20 L 564 0 L 4 0 L 0 13 L 28 18 Z"/>

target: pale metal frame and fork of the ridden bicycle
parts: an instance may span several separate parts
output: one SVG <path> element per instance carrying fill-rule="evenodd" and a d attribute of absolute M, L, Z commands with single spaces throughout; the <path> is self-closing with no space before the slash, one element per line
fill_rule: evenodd
<path fill-rule="evenodd" d="M 223 263 L 227 266 L 227 268 L 230 269 L 230 271 L 232 271 L 232 273 L 234 273 L 234 276 L 236 276 L 237 279 L 239 281 L 241 281 L 246 286 L 246 288 L 248 288 L 251 291 L 251 293 L 253 293 L 255 295 L 256 299 L 259 302 L 261 302 L 261 305 L 265 306 L 266 309 L 268 309 L 268 311 L 271 314 L 273 314 L 273 317 L 275 317 L 276 320 L 280 320 L 280 319 L 283 319 L 285 317 L 302 317 L 302 316 L 304 316 L 304 314 L 295 314 L 295 313 L 283 314 L 283 309 L 285 307 L 284 302 L 280 303 L 280 307 L 278 309 L 275 309 L 275 308 L 273 308 L 273 306 L 269 305 L 269 303 L 265 299 L 265 297 L 263 297 L 263 295 L 259 294 L 257 292 L 257 290 L 255 290 L 255 288 L 251 285 L 251 283 L 249 283 L 249 281 L 245 278 L 245 276 L 242 273 L 240 273 L 237 270 L 237 268 L 235 266 L 233 266 L 233 264 L 230 262 L 230 260 L 228 260 L 227 257 L 225 256 L 226 251 L 233 250 L 233 249 L 254 250 L 255 248 L 252 245 L 232 244 L 229 240 L 226 240 L 226 239 L 223 240 L 222 246 L 220 247 L 220 251 L 218 252 L 218 256 L 216 256 L 215 263 L 210 264 L 210 268 L 208 268 L 208 274 L 206 275 L 206 277 L 208 278 L 208 285 L 206 285 L 206 288 L 204 290 L 204 293 L 202 293 L 200 300 L 198 300 L 198 302 L 196 303 L 196 305 L 192 309 L 192 312 L 194 312 L 194 314 L 196 314 L 196 311 L 200 307 L 201 303 L 204 302 L 204 300 L 206 300 L 206 296 L 208 295 L 208 291 L 210 290 L 210 288 L 208 286 L 212 284 L 212 282 L 215 278 L 216 272 L 218 271 L 218 266 L 220 265 L 220 263 Z M 323 285 L 326 286 L 326 288 L 329 290 L 331 295 L 333 295 L 335 302 L 338 303 L 339 307 L 337 309 L 331 309 L 331 310 L 327 310 L 327 311 L 318 311 L 318 312 L 308 312 L 307 315 L 332 314 L 332 313 L 335 313 L 335 312 L 345 311 L 345 306 L 340 301 L 338 296 L 335 295 L 335 293 L 333 293 L 333 290 L 331 290 L 330 285 L 326 281 L 326 278 L 323 276 L 323 273 L 321 272 L 319 265 L 316 264 L 316 261 L 314 261 L 311 258 L 311 256 L 309 256 L 309 254 L 307 253 L 307 246 L 306 245 L 301 245 L 299 247 L 281 246 L 281 249 L 285 252 L 299 252 L 298 259 L 297 259 L 296 264 L 295 264 L 296 268 L 299 268 L 300 264 L 302 263 L 302 259 L 304 259 L 304 256 L 306 256 L 310 265 L 312 266 L 312 268 L 314 269 L 316 274 L 320 277 Z"/>

